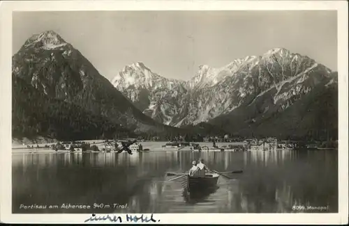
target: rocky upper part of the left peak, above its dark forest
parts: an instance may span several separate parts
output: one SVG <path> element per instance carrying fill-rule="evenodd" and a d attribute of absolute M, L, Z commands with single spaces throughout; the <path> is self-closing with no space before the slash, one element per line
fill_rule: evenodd
<path fill-rule="evenodd" d="M 80 51 L 53 31 L 33 35 L 24 43 L 13 56 L 13 76 L 49 99 L 73 104 L 77 111 L 99 115 L 131 131 L 171 129 L 135 108 Z"/>

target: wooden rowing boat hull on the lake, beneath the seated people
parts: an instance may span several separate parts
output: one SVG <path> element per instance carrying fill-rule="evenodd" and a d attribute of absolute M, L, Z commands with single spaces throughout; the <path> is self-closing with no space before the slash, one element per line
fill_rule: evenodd
<path fill-rule="evenodd" d="M 189 192 L 203 191 L 208 188 L 214 188 L 217 185 L 219 175 L 217 173 L 209 172 L 205 177 L 191 177 L 186 175 L 186 179 L 182 182 L 184 188 Z"/>

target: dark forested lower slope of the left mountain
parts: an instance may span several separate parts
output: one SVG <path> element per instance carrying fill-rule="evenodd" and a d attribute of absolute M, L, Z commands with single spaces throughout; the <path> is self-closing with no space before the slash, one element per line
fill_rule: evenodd
<path fill-rule="evenodd" d="M 12 77 L 12 128 L 14 138 L 84 140 L 133 136 L 131 131 L 101 115 L 45 95 L 23 79 Z"/>

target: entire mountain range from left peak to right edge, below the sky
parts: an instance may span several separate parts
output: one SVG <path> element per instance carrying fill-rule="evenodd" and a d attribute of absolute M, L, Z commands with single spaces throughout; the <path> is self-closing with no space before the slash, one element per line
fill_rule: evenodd
<path fill-rule="evenodd" d="M 13 56 L 13 83 L 17 84 L 13 86 L 13 128 L 17 128 L 13 131 L 21 136 L 25 129 L 20 128 L 28 124 L 34 130 L 25 134 L 52 134 L 49 127 L 61 134 L 58 122 L 67 112 L 75 112 L 79 122 L 71 128 L 74 137 L 85 136 L 90 124 L 94 128 L 111 125 L 112 129 L 96 130 L 94 136 L 122 128 L 146 134 L 195 131 L 322 138 L 336 137 L 338 130 L 336 72 L 283 48 L 220 68 L 200 65 L 188 81 L 165 78 L 141 62 L 125 66 L 108 81 L 80 51 L 54 31 L 46 31 L 29 38 Z M 40 100 L 36 105 L 40 114 L 32 113 L 22 90 L 40 96 L 30 99 L 31 103 Z M 53 115 L 52 109 L 47 110 L 50 104 L 59 106 Z M 42 118 L 47 123 L 39 127 Z"/>

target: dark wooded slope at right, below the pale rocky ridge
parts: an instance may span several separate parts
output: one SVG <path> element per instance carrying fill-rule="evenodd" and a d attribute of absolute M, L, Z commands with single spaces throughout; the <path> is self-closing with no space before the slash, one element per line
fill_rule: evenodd
<path fill-rule="evenodd" d="M 295 86 L 295 83 L 299 83 L 299 80 L 286 83 L 281 90 L 270 88 L 252 102 L 220 115 L 209 123 L 239 136 L 338 139 L 337 74 L 333 73 L 322 81 L 315 77 L 309 78 L 299 83 L 299 86 Z M 313 83 L 317 85 L 313 86 Z M 301 87 L 307 92 L 294 95 L 295 90 Z M 276 97 L 281 98 L 275 102 Z"/>

